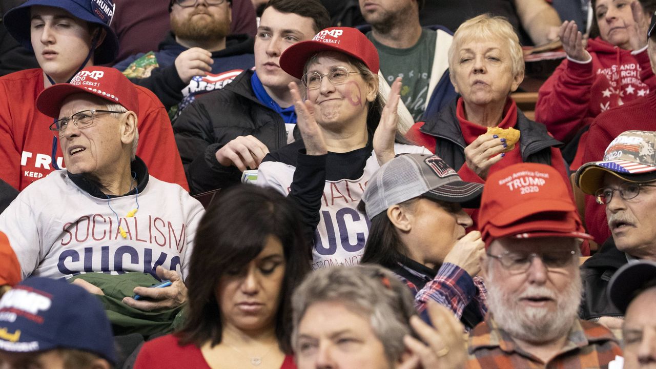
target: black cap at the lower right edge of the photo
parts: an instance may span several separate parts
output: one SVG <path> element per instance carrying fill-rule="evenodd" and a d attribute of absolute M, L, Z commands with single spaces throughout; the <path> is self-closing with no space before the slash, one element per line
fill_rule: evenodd
<path fill-rule="evenodd" d="M 656 263 L 642 260 L 623 265 L 611 278 L 607 293 L 611 303 L 622 313 L 638 290 L 656 278 Z"/>

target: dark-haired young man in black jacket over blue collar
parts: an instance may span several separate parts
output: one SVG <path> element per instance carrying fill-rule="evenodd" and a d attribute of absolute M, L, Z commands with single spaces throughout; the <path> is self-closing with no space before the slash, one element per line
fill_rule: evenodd
<path fill-rule="evenodd" d="M 220 91 L 199 97 L 174 125 L 192 194 L 239 183 L 270 151 L 294 141 L 296 114 L 287 85 L 297 81 L 279 64 L 280 54 L 329 26 L 318 0 L 272 0 L 255 39 L 255 69 Z"/>

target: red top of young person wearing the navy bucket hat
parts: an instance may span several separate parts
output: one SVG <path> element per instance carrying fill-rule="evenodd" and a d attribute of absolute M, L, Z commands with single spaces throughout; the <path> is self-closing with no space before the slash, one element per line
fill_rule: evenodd
<path fill-rule="evenodd" d="M 136 155 L 155 178 L 189 190 L 164 106 L 150 90 L 134 87 L 139 99 Z M 36 108 L 43 89 L 43 70 L 39 68 L 0 77 L 0 178 L 18 190 L 53 170 L 54 136 L 48 129 L 53 119 Z M 57 147 L 56 162 L 62 168 L 63 161 Z"/>

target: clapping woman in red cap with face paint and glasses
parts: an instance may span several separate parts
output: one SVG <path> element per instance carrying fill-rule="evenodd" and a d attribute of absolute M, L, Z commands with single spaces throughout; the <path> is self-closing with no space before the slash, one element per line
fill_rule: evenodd
<path fill-rule="evenodd" d="M 367 181 L 394 154 L 425 152 L 398 143 L 407 142 L 397 128 L 401 82 L 383 108 L 376 48 L 348 27 L 290 46 L 280 66 L 304 87 L 306 100 L 290 83 L 303 140 L 266 156 L 258 185 L 289 194 L 303 211 L 306 232 L 316 228 L 314 269 L 357 264 L 369 234 L 369 219 L 356 209 Z"/>

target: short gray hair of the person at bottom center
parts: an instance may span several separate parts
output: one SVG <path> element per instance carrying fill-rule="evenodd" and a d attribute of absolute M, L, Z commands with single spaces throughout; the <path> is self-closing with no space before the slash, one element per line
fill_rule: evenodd
<path fill-rule="evenodd" d="M 407 286 L 379 265 L 332 267 L 308 274 L 292 297 L 292 347 L 298 350 L 298 324 L 310 306 L 335 301 L 369 320 L 388 362 L 401 357 L 403 336 L 412 333 L 409 320 L 417 313 Z"/>

